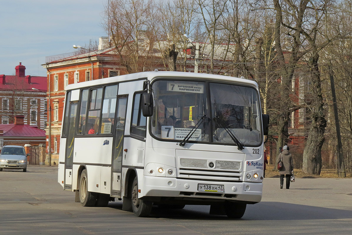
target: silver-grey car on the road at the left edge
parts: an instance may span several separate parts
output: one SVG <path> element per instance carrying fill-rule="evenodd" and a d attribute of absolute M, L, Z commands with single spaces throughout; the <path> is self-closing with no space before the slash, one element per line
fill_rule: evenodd
<path fill-rule="evenodd" d="M 27 171 L 27 156 L 23 146 L 6 145 L 1 149 L 0 171 L 2 169 L 23 169 Z"/>

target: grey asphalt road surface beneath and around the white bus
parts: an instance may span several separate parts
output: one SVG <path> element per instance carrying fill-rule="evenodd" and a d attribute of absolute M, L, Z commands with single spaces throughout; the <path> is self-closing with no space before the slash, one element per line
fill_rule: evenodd
<path fill-rule="evenodd" d="M 108 207 L 82 207 L 57 183 L 57 167 L 0 172 L 0 234 L 352 234 L 352 179 L 296 179 L 289 190 L 265 178 L 262 202 L 241 219 L 209 215 L 209 206 L 153 208 L 139 218 Z"/>

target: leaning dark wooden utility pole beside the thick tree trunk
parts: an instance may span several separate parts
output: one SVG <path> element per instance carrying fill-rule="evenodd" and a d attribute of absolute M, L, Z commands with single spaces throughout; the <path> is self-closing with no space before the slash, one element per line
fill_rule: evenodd
<path fill-rule="evenodd" d="M 342 153 L 342 141 L 341 141 L 341 133 L 340 133 L 340 123 L 339 123 L 339 116 L 337 112 L 337 103 L 336 103 L 336 94 L 335 94 L 335 84 L 334 84 L 334 76 L 332 72 L 331 61 L 329 63 L 329 77 L 330 77 L 330 84 L 331 84 L 331 94 L 332 94 L 332 101 L 334 106 L 334 115 L 335 115 L 335 125 L 336 125 L 336 134 L 337 134 L 337 146 L 336 150 L 338 153 L 338 176 L 339 177 L 346 177 L 345 171 L 345 163 L 344 163 L 344 155 Z"/>

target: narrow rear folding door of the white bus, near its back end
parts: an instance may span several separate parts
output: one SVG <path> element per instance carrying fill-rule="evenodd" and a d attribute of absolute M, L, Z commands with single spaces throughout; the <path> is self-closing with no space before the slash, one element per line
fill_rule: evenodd
<path fill-rule="evenodd" d="M 65 181 L 64 189 L 72 188 L 72 165 L 73 165 L 73 148 L 75 143 L 75 124 L 77 116 L 77 103 L 71 103 L 70 113 L 68 115 L 69 125 L 67 129 L 66 153 L 65 153 Z"/>

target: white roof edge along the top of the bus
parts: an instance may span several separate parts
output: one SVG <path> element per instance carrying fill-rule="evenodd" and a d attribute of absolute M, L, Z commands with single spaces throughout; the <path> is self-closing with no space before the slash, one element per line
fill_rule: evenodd
<path fill-rule="evenodd" d="M 206 74 L 206 73 L 189 73 L 189 72 L 173 72 L 173 71 L 155 71 L 155 72 L 140 72 L 140 73 L 132 73 L 120 76 L 114 76 L 110 78 L 97 79 L 92 81 L 80 82 L 76 84 L 70 84 L 66 87 L 66 90 L 74 90 L 82 87 L 90 87 L 102 84 L 109 84 L 114 82 L 124 82 L 136 79 L 145 79 L 145 80 L 154 80 L 157 78 L 191 78 L 191 79 L 204 79 L 204 80 L 216 80 L 223 82 L 232 82 L 243 85 L 254 86 L 258 89 L 258 84 L 255 81 L 243 79 L 243 78 L 235 78 L 224 75 L 216 75 L 216 74 Z"/>

